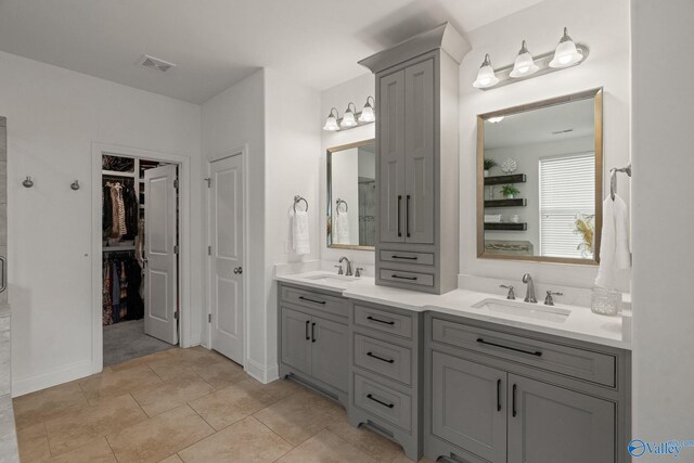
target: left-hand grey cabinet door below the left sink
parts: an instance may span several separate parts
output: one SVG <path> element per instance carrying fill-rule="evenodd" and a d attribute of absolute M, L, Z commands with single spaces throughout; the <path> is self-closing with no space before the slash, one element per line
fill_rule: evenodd
<path fill-rule="evenodd" d="M 282 307 L 282 361 L 311 373 L 311 318 Z"/>

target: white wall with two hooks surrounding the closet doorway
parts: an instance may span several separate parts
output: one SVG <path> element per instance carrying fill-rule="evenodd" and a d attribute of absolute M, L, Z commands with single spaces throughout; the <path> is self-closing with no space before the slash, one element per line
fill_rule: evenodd
<path fill-rule="evenodd" d="M 13 394 L 94 373 L 92 143 L 179 154 L 200 178 L 200 107 L 0 52 L 0 113 L 8 118 L 8 240 Z M 25 176 L 33 189 L 22 187 Z M 74 180 L 81 189 L 69 189 Z M 198 204 L 201 189 L 192 190 Z M 191 211 L 193 223 L 201 220 Z M 191 253 L 200 253 L 192 230 Z M 99 236 L 97 237 L 100 239 Z M 200 266 L 191 273 L 200 340 Z"/>

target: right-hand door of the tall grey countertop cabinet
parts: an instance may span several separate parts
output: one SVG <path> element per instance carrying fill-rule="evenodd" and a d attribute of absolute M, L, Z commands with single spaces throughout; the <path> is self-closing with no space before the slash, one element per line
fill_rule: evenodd
<path fill-rule="evenodd" d="M 433 244 L 434 60 L 412 65 L 404 72 L 406 241 Z"/>

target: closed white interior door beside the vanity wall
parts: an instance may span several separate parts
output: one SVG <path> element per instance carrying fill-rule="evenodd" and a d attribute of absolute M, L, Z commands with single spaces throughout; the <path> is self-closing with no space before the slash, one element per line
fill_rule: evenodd
<path fill-rule="evenodd" d="M 209 170 L 211 348 L 243 364 L 242 157 L 216 160 Z"/>

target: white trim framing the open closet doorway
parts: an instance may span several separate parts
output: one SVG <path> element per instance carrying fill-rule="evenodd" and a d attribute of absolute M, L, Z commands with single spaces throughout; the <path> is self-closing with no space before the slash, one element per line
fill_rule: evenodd
<path fill-rule="evenodd" d="M 99 373 L 103 370 L 103 326 L 102 326 L 102 243 L 101 243 L 101 207 L 102 207 L 102 189 L 101 189 L 101 170 L 103 153 L 123 155 L 126 157 L 138 157 L 144 159 L 163 160 L 167 163 L 176 163 L 179 165 L 179 197 L 180 204 L 180 272 L 179 272 L 179 294 L 180 298 L 180 327 L 179 327 L 179 346 L 191 347 L 192 342 L 192 304 L 191 304 L 191 159 L 180 154 L 163 153 L 159 151 L 141 150 L 129 146 L 120 146 L 114 144 L 104 144 L 93 142 L 91 146 L 91 176 L 92 176 L 92 351 L 91 351 L 91 371 L 89 373 Z M 88 373 L 88 374 L 89 374 Z M 86 376 L 86 375 L 82 375 Z M 54 383 L 55 384 L 55 383 Z"/>

